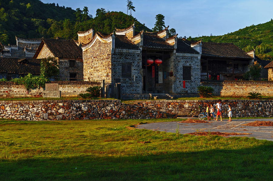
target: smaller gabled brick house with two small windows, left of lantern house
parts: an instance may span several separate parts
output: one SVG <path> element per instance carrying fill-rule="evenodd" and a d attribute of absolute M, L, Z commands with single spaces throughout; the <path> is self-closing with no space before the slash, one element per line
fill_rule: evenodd
<path fill-rule="evenodd" d="M 83 53 L 74 40 L 42 38 L 33 58 L 48 57 L 58 59 L 59 79 L 83 80 Z"/>

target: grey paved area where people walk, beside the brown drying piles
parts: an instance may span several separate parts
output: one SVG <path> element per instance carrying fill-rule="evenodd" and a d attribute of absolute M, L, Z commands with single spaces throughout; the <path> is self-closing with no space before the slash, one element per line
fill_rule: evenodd
<path fill-rule="evenodd" d="M 173 122 L 160 122 L 141 124 L 138 129 L 149 129 L 154 131 L 165 131 L 175 133 L 177 125 L 179 125 L 180 134 L 196 132 L 196 130 L 202 131 L 219 131 L 219 132 L 235 132 L 235 133 L 252 133 L 249 135 L 234 135 L 236 137 L 254 137 L 260 140 L 273 141 L 273 126 L 242 126 L 241 124 L 247 124 L 254 121 L 273 121 L 272 118 L 265 119 L 232 119 L 231 122 L 223 119 L 223 121 L 209 121 L 209 123 L 181 123 L 178 119 Z M 232 135 L 230 137 L 233 137 Z"/>

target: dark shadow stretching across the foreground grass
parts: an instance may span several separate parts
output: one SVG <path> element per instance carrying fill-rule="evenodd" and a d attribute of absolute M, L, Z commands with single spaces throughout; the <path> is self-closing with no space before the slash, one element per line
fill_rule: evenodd
<path fill-rule="evenodd" d="M 239 139 L 236 137 L 229 140 Z M 185 148 L 186 149 L 186 148 Z M 1 160 L 1 180 L 272 180 L 273 143 L 146 156 Z M 140 153 L 141 154 L 141 153 Z"/>

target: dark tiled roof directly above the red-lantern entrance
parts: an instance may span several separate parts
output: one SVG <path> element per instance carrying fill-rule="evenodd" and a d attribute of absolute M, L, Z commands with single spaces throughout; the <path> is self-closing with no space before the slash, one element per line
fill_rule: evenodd
<path fill-rule="evenodd" d="M 156 32 L 157 33 L 157 32 Z M 143 33 L 143 47 L 173 50 L 174 47 L 154 33 Z"/>

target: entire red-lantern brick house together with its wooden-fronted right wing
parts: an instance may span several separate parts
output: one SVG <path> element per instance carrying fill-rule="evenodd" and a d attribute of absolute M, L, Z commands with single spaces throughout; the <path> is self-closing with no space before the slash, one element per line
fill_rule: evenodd
<path fill-rule="evenodd" d="M 248 65 L 258 60 L 255 50 L 244 52 L 234 44 L 190 42 L 159 32 L 137 32 L 132 24 L 111 34 L 78 32 L 83 49 L 84 80 L 120 82 L 123 94 L 196 94 L 201 79 L 241 79 Z M 147 64 L 147 59 L 161 64 Z M 267 70 L 263 76 L 267 78 Z M 113 93 L 113 92 L 112 92 Z"/>

